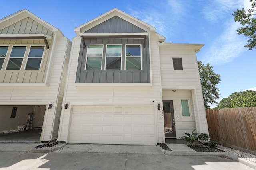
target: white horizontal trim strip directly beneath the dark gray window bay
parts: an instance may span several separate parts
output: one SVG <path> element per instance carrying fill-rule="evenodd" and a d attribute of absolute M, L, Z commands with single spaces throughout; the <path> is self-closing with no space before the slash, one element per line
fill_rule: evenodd
<path fill-rule="evenodd" d="M 81 86 L 152 86 L 152 83 L 74 83 L 76 87 Z"/>

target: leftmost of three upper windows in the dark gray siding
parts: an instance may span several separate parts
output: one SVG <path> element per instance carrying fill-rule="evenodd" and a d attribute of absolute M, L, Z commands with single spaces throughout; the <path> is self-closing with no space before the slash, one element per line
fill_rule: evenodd
<path fill-rule="evenodd" d="M 86 70 L 101 70 L 103 45 L 88 45 Z"/>

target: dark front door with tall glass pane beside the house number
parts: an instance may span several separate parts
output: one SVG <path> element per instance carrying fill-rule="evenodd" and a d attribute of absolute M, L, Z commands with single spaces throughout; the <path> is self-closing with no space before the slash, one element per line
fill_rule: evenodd
<path fill-rule="evenodd" d="M 176 138 L 172 100 L 163 100 L 165 138 Z"/>

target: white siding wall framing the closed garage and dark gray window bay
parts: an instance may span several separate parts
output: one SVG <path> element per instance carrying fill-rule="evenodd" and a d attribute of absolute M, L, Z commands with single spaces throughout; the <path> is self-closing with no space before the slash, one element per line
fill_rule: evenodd
<path fill-rule="evenodd" d="M 66 86 L 66 96 L 64 103 L 72 105 L 119 105 L 119 106 L 155 106 L 156 110 L 156 129 L 157 143 L 164 142 L 164 119 L 162 112 L 157 110 L 157 104 L 162 103 L 161 96 L 161 80 L 159 69 L 159 51 L 157 37 L 150 37 L 151 46 L 151 65 L 152 65 L 152 86 L 74 86 L 78 56 L 80 50 L 81 39 L 75 37 L 73 39 L 70 68 Z M 93 84 L 92 84 L 93 85 Z M 98 85 L 98 84 L 97 84 Z M 154 102 L 153 102 L 154 101 Z M 70 117 L 72 107 L 63 109 L 62 118 L 59 128 L 58 141 L 68 142 Z"/>

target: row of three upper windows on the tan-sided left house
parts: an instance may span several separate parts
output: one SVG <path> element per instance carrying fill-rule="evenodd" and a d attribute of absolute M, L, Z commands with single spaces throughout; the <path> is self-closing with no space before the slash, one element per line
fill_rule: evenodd
<path fill-rule="evenodd" d="M 8 52 L 8 49 L 10 51 Z M 27 52 L 27 49 L 28 52 Z M 0 70 L 40 70 L 44 46 L 0 46 Z M 5 61 L 6 60 L 6 61 Z M 24 63 L 24 64 L 23 64 Z"/>

